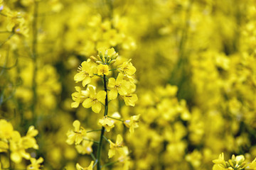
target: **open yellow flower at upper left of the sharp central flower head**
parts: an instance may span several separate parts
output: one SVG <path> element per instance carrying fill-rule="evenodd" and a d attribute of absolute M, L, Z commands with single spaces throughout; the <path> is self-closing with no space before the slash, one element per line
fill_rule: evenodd
<path fill-rule="evenodd" d="M 82 81 L 82 86 L 86 86 L 87 84 L 90 84 L 91 77 L 94 76 L 93 74 L 93 67 L 90 64 L 90 59 L 88 59 L 86 62 L 82 62 L 80 67 L 78 67 L 78 74 L 75 74 L 74 80 L 76 82 Z"/>

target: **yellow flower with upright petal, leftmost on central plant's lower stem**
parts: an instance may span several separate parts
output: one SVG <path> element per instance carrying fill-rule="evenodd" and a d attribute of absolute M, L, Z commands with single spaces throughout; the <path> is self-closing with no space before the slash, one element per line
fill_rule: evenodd
<path fill-rule="evenodd" d="M 75 145 L 78 145 L 82 142 L 83 137 L 86 136 L 86 131 L 84 128 L 80 127 L 80 122 L 78 120 L 73 122 L 73 126 L 75 130 L 69 130 L 67 132 L 68 140 L 66 140 L 66 142 L 68 145 L 73 145 L 74 142 Z"/>

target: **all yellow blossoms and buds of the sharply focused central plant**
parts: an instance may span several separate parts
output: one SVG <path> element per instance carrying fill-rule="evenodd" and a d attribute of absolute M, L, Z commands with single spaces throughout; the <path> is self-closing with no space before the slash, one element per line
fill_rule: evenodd
<path fill-rule="evenodd" d="M 72 94 L 73 103 L 71 107 L 78 108 L 80 103 L 84 108 L 92 108 L 94 113 L 100 113 L 102 106 L 105 108 L 104 116 L 98 120 L 98 125 L 102 127 L 101 130 L 85 130 L 85 128 L 80 127 L 80 121 L 75 120 L 73 126 L 75 130 L 70 130 L 67 133 L 68 140 L 66 141 L 69 145 L 75 143 L 75 148 L 80 154 L 90 154 L 92 156 L 92 161 L 87 169 L 92 169 L 93 166 L 97 164 L 97 169 L 100 169 L 101 162 L 101 150 L 102 150 L 102 139 L 107 138 L 104 136 L 105 130 L 107 132 L 112 131 L 116 121 L 122 122 L 130 132 L 134 132 L 134 128 L 138 128 L 139 115 L 134 115 L 131 118 L 122 120 L 118 113 L 113 114 L 113 116 L 108 115 L 108 107 L 110 101 L 113 101 L 120 96 L 124 100 L 126 106 L 134 106 L 137 102 L 137 94 L 134 94 L 136 90 L 136 85 L 134 84 L 134 74 L 136 72 L 131 60 L 123 62 L 122 64 L 115 64 L 118 54 L 114 51 L 114 48 L 107 50 L 99 50 L 97 57 L 91 56 L 85 62 L 82 62 L 80 67 L 78 67 L 78 74 L 75 74 L 75 82 L 82 81 L 82 90 L 80 86 L 75 86 L 77 92 Z M 116 67 L 116 68 L 114 68 Z M 117 77 L 107 76 L 111 75 L 115 70 L 118 71 Z M 114 73 L 113 73 L 114 75 Z M 96 91 L 96 86 L 92 85 L 92 82 L 102 79 L 104 91 Z M 119 99 L 119 98 L 118 98 Z M 96 142 L 90 135 L 89 132 L 101 131 L 100 140 Z M 117 135 L 116 143 L 111 140 L 107 140 L 110 143 L 110 149 L 108 152 L 108 157 L 117 157 L 117 162 L 122 162 L 124 167 L 129 166 L 129 150 L 128 147 L 124 146 L 123 138 L 121 135 Z M 97 159 L 95 158 L 92 150 L 93 143 L 97 143 Z M 77 164 L 76 168 L 78 170 L 85 169 Z"/>

